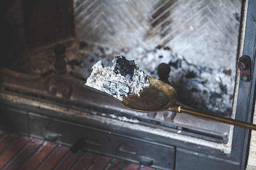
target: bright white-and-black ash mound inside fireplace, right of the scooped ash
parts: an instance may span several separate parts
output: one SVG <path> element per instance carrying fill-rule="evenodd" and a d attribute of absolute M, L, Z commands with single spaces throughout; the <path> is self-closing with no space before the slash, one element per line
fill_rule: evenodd
<path fill-rule="evenodd" d="M 212 70 L 193 65 L 171 50 L 147 51 L 137 47 L 126 54 L 149 76 L 157 77 L 161 62 L 170 65 L 169 82 L 178 92 L 178 100 L 185 105 L 218 115 L 231 115 L 235 76 L 226 70 Z"/>

